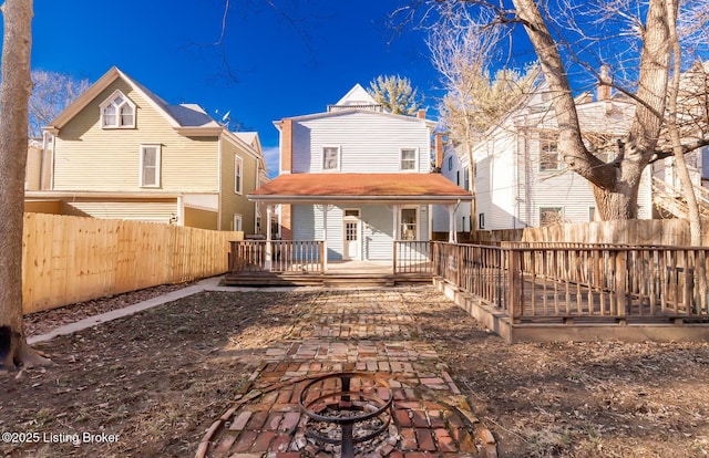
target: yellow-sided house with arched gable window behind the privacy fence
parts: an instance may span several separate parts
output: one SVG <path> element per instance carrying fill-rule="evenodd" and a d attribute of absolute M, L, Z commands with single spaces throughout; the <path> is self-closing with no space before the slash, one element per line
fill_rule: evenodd
<path fill-rule="evenodd" d="M 260 233 L 246 198 L 266 177 L 258 134 L 169 105 L 115 66 L 44 127 L 42 145 L 34 168 L 49 179 L 28 179 L 41 183 L 25 191 L 30 211 L 42 202 L 63 215 Z"/>

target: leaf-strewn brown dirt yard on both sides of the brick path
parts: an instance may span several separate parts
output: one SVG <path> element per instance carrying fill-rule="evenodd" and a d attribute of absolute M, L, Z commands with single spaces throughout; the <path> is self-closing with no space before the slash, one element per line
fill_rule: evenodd
<path fill-rule="evenodd" d="M 28 316 L 28 332 L 174 288 Z M 501 457 L 709 455 L 709 344 L 511 346 L 431 288 L 415 291 L 403 295 L 410 313 Z M 0 373 L 0 454 L 194 456 L 316 294 L 204 292 L 38 345 L 54 365 Z M 238 351 L 225 358 L 227 345 Z"/>

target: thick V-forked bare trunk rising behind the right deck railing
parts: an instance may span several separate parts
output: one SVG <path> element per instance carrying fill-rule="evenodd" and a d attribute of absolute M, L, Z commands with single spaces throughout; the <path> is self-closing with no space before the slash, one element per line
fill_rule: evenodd
<path fill-rule="evenodd" d="M 583 144 L 576 106 L 557 45 L 535 0 L 513 0 L 553 92 L 559 150 L 569 168 L 594 187 L 604 220 L 637 217 L 643 169 L 649 164 L 664 119 L 669 74 L 669 27 L 665 0 L 649 0 L 635 117 L 618 160 L 604 164 Z"/>

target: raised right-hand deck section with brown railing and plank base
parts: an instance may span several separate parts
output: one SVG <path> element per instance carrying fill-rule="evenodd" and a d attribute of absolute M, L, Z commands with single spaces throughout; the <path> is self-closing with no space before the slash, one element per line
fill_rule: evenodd
<path fill-rule="evenodd" d="M 511 343 L 709 341 L 706 254 L 676 247 L 441 243 L 434 284 Z"/>

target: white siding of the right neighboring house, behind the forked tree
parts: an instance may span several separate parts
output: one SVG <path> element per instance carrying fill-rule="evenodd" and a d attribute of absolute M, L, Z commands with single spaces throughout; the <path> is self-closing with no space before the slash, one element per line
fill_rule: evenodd
<path fill-rule="evenodd" d="M 612 135 L 627 132 L 633 111 L 633 105 L 617 102 L 578 105 L 585 132 Z M 596 202 L 588 181 L 563 169 L 540 170 L 540 131 L 556 128 L 553 112 L 522 111 L 475 147 L 477 211 L 484 214 L 484 229 L 540 226 L 543 207 L 561 207 L 567 222 L 589 221 Z M 647 183 L 645 179 L 640 185 L 639 218 L 651 212 Z"/>

